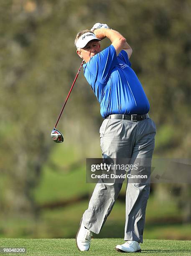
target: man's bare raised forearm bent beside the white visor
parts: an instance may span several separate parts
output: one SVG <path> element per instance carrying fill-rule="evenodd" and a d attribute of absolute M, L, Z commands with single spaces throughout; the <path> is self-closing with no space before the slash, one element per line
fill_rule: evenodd
<path fill-rule="evenodd" d="M 94 34 L 99 39 L 109 38 L 114 46 L 116 54 L 118 55 L 122 49 L 127 52 L 128 58 L 132 54 L 131 47 L 127 44 L 126 39 L 119 32 L 109 28 L 99 28 L 94 30 Z"/>

